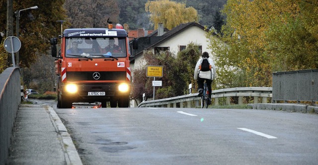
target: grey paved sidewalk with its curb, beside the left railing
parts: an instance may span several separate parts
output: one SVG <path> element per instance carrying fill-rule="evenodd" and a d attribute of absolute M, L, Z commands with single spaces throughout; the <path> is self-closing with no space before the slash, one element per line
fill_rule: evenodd
<path fill-rule="evenodd" d="M 64 124 L 48 105 L 20 105 L 8 165 L 82 165 Z"/>

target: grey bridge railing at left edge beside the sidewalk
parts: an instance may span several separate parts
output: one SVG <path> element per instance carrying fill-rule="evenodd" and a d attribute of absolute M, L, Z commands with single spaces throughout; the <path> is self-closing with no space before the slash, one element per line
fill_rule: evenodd
<path fill-rule="evenodd" d="M 0 74 L 0 165 L 6 163 L 11 130 L 20 103 L 20 71 L 17 67 L 8 67 Z"/>

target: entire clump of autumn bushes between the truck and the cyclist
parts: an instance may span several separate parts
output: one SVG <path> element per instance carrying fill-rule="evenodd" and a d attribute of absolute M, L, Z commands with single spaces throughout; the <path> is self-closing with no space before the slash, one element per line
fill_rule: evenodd
<path fill-rule="evenodd" d="M 198 46 L 193 43 L 179 52 L 176 58 L 170 52 L 160 52 L 158 55 L 154 55 L 150 51 L 144 52 L 146 64 L 134 70 L 131 97 L 135 101 L 141 101 L 143 93 L 145 93 L 146 98 L 153 98 L 152 81 L 154 79 L 146 76 L 147 65 L 163 67 L 163 76 L 156 78 L 156 80 L 162 80 L 162 87 L 156 87 L 155 99 L 185 95 L 190 83 L 192 83 L 194 89 L 197 89 L 193 72 L 199 57 Z"/>

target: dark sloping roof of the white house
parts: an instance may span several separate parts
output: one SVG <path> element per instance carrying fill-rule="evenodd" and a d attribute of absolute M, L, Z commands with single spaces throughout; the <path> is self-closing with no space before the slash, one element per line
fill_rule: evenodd
<path fill-rule="evenodd" d="M 172 28 L 170 31 L 165 32 L 162 36 L 156 36 L 156 34 L 158 34 L 158 30 L 155 30 L 152 34 L 148 35 L 147 37 L 140 37 L 138 38 L 138 44 L 139 47 L 142 46 L 141 48 L 139 48 L 138 50 L 136 50 L 136 55 L 134 57 L 131 57 L 130 60 L 133 61 L 135 60 L 135 58 L 139 55 L 142 55 L 144 50 L 148 50 L 151 49 L 153 47 L 156 47 L 157 45 L 161 44 L 162 42 L 172 38 L 173 36 L 181 33 L 182 31 L 186 30 L 189 27 L 192 26 L 197 26 L 199 28 L 201 28 L 202 30 L 205 30 L 205 28 L 196 23 L 196 22 L 189 22 L 189 23 L 183 23 L 180 24 L 174 28 Z M 208 31 L 208 30 L 206 30 Z"/>

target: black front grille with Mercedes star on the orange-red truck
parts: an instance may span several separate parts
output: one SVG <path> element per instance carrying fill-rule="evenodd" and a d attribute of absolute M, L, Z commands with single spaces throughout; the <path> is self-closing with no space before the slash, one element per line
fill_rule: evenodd
<path fill-rule="evenodd" d="M 99 79 L 94 79 L 95 72 L 67 72 L 68 81 L 86 81 L 86 80 L 126 80 L 126 72 L 97 72 Z M 95 77 L 97 78 L 97 77 Z"/>

